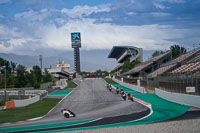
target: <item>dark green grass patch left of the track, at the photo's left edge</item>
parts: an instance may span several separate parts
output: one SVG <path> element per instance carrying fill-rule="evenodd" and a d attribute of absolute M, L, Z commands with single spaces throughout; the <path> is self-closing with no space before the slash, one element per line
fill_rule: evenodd
<path fill-rule="evenodd" d="M 17 122 L 31 118 L 44 116 L 51 110 L 61 99 L 46 98 L 26 107 L 0 111 L 0 123 Z"/>

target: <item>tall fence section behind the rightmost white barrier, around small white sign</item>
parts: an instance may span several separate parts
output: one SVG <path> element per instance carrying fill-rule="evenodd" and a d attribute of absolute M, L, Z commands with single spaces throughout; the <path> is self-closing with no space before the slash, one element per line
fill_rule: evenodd
<path fill-rule="evenodd" d="M 199 75 L 171 75 L 158 78 L 159 88 L 169 92 L 200 95 Z M 195 87 L 195 92 L 186 92 L 186 87 Z"/>

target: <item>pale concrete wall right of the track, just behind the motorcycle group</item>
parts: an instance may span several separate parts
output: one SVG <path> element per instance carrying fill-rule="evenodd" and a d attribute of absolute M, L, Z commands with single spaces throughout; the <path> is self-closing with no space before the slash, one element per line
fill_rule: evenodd
<path fill-rule="evenodd" d="M 134 91 L 141 92 L 141 93 L 147 93 L 144 87 L 136 86 L 136 85 L 133 85 L 133 84 L 128 84 L 128 83 L 122 82 L 120 80 L 117 80 L 116 78 L 112 78 L 112 80 L 117 82 L 118 84 L 120 84 L 122 86 L 133 89 Z"/>

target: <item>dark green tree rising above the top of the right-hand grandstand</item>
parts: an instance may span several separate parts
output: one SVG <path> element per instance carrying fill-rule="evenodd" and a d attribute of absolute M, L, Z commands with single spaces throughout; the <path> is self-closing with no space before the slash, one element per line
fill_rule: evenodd
<path fill-rule="evenodd" d="M 173 45 L 170 47 L 171 53 L 172 53 L 172 58 L 176 58 L 178 56 L 180 56 L 181 54 L 185 54 L 186 53 L 186 48 L 181 47 L 179 45 Z"/>

